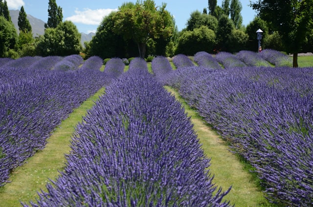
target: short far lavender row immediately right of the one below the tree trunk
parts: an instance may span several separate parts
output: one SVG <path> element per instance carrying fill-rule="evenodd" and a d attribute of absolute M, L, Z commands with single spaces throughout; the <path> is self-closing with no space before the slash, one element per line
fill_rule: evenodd
<path fill-rule="evenodd" d="M 152 62 L 152 71 L 156 77 L 156 80 L 163 84 L 169 73 L 173 71 L 173 68 L 167 58 L 162 56 L 155 57 Z"/>

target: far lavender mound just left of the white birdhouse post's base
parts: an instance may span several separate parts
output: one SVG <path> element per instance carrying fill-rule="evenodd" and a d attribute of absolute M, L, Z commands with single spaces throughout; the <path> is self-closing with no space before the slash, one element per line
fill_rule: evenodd
<path fill-rule="evenodd" d="M 235 56 L 248 66 L 270 66 L 270 64 L 256 52 L 242 50 Z"/>

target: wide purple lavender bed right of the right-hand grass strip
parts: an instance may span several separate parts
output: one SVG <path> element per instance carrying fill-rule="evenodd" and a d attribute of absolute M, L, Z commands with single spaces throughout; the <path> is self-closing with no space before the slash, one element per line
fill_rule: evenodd
<path fill-rule="evenodd" d="M 313 68 L 193 66 L 165 77 L 255 167 L 270 201 L 313 205 Z"/>

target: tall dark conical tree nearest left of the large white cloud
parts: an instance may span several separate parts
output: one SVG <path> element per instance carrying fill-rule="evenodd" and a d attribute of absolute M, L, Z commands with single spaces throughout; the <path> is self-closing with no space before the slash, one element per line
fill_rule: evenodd
<path fill-rule="evenodd" d="M 63 21 L 62 8 L 56 3 L 56 0 L 49 0 L 48 21 L 45 28 L 56 28 Z"/>

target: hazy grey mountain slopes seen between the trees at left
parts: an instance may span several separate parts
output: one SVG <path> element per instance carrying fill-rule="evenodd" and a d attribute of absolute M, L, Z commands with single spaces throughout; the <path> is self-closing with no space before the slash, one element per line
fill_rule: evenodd
<path fill-rule="evenodd" d="M 12 20 L 16 30 L 19 33 L 20 31 L 19 31 L 18 19 L 19 19 L 20 10 L 9 10 L 9 12 L 10 12 L 11 20 Z M 35 18 L 29 14 L 27 14 L 27 20 L 29 21 L 29 23 L 31 25 L 34 37 L 38 37 L 39 35 L 45 34 L 45 22 L 44 21 L 37 19 L 37 18 Z M 84 42 L 90 41 L 94 35 L 95 35 L 95 33 L 93 33 L 93 32 L 91 32 L 89 34 L 81 33 L 82 45 L 84 46 Z"/>

